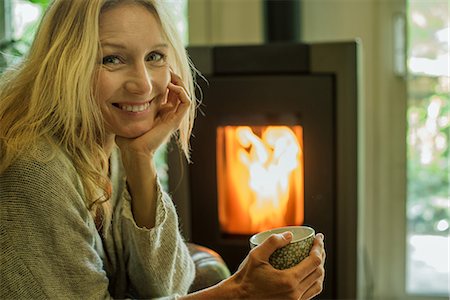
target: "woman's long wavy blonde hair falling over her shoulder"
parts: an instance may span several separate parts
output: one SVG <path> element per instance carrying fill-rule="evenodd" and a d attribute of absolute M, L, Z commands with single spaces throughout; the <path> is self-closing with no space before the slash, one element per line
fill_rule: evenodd
<path fill-rule="evenodd" d="M 111 196 L 103 118 L 95 100 L 101 57 L 99 16 L 123 3 L 137 3 L 161 24 L 169 63 L 195 97 L 193 68 L 164 0 L 54 0 L 39 25 L 29 54 L 0 82 L 0 173 L 43 138 L 72 159 L 95 216 Z M 194 99 L 195 100 L 195 99 Z M 180 125 L 178 143 L 189 160 L 196 105 Z M 101 193 L 99 194 L 99 191 Z M 106 218 L 106 220 L 109 218 Z"/>

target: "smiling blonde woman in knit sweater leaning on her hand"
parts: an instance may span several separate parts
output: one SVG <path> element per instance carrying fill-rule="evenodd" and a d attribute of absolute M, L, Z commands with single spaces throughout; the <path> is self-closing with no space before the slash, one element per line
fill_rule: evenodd
<path fill-rule="evenodd" d="M 189 158 L 193 76 L 164 1 L 55 0 L 0 92 L 0 298 L 293 298 L 323 283 L 323 236 L 298 266 L 268 257 L 186 295 L 194 266 L 153 154 Z M 177 75 L 179 74 L 179 75 Z"/>

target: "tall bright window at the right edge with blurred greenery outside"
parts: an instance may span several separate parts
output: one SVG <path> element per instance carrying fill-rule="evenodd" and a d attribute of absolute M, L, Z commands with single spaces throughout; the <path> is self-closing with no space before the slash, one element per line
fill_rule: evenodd
<path fill-rule="evenodd" d="M 409 0 L 409 294 L 449 295 L 449 3 Z"/>

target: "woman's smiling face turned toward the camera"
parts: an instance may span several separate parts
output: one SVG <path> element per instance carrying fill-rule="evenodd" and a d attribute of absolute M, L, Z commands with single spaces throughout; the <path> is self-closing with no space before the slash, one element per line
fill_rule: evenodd
<path fill-rule="evenodd" d="M 169 48 L 155 16 L 123 4 L 100 16 L 102 58 L 95 85 L 108 135 L 135 138 L 149 131 L 165 101 Z"/>

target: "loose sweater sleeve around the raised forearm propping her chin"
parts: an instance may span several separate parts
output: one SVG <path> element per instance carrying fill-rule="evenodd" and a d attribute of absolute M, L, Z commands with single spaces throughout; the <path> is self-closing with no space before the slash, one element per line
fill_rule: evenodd
<path fill-rule="evenodd" d="M 124 191 L 122 235 L 132 293 L 139 298 L 176 297 L 187 293 L 195 267 L 179 232 L 175 207 L 157 184 L 156 224 L 138 227 L 131 211 L 131 196 Z"/>

